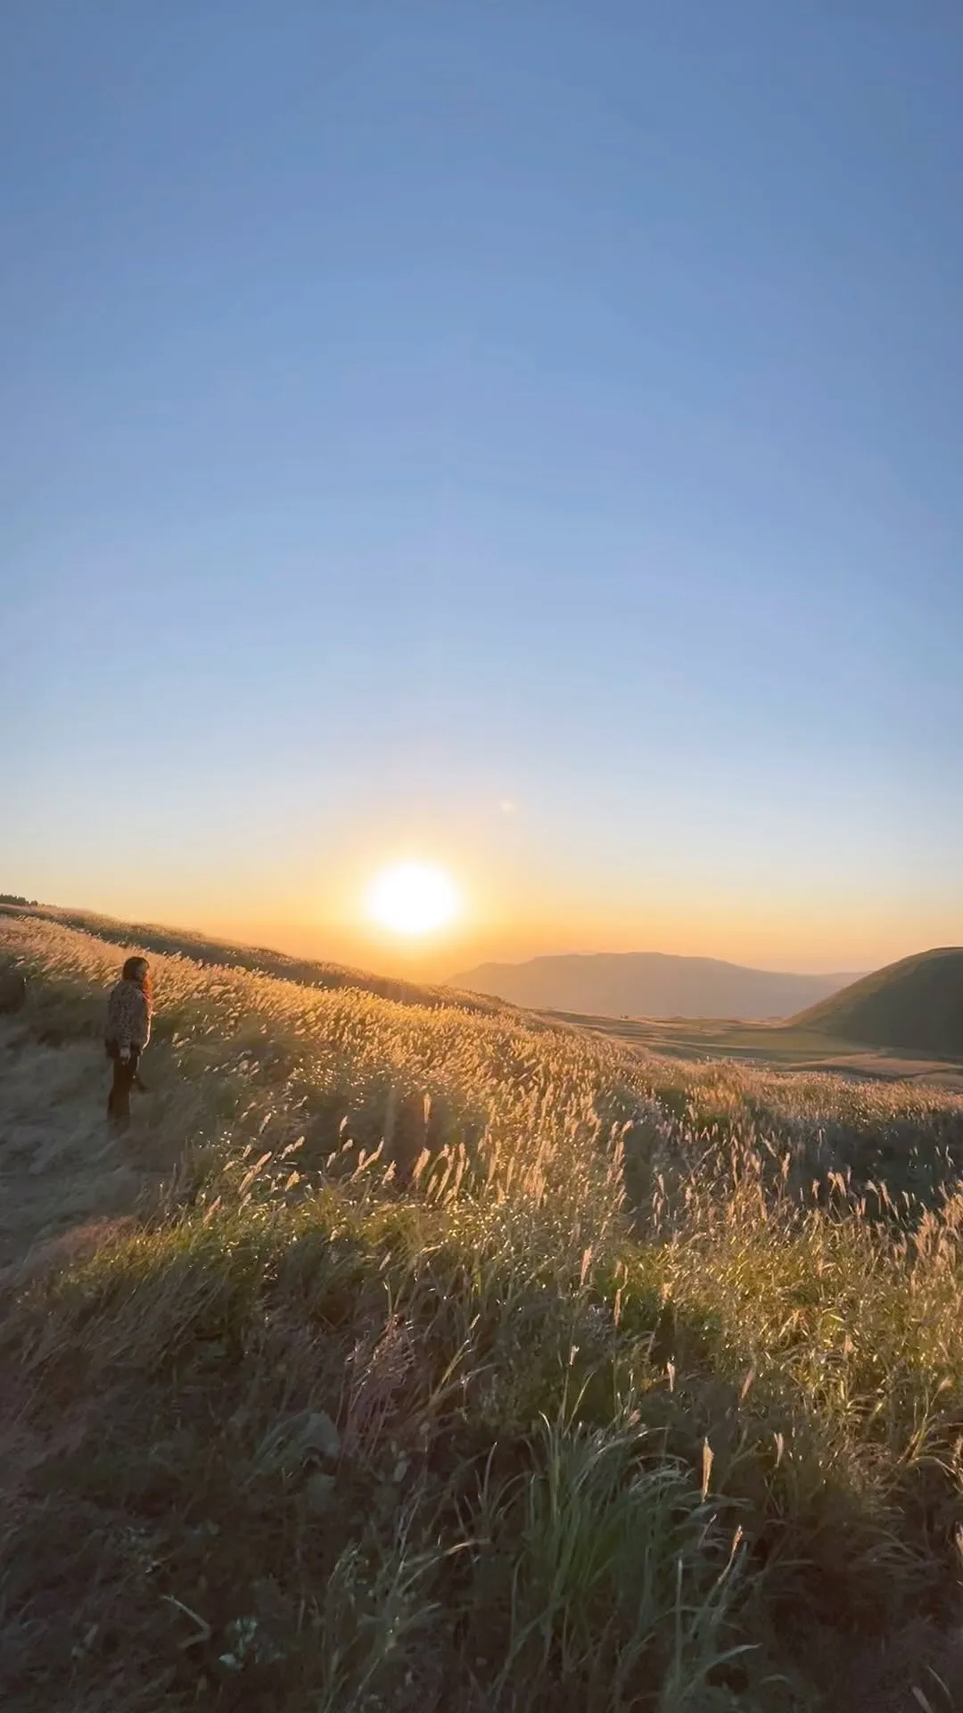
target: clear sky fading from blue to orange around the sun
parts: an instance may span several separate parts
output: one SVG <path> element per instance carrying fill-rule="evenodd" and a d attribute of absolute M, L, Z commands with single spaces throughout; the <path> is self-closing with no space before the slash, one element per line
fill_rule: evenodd
<path fill-rule="evenodd" d="M 360 958 L 427 855 L 439 968 L 963 939 L 956 7 L 0 27 L 0 887 Z"/>

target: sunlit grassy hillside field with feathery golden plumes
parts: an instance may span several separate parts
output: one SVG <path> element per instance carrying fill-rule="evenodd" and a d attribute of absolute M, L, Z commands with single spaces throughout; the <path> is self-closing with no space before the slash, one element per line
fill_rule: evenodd
<path fill-rule="evenodd" d="M 122 956 L 0 918 L 7 1062 L 101 1089 Z M 151 963 L 154 1179 L 3 1278 L 3 1708 L 963 1706 L 961 1096 Z"/>

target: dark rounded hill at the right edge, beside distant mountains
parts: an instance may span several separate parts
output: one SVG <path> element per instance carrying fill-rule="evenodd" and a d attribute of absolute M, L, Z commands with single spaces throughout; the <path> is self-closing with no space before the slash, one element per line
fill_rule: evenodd
<path fill-rule="evenodd" d="M 963 946 L 941 946 L 886 964 L 810 1006 L 797 1024 L 872 1047 L 942 1059 L 963 1055 Z"/>

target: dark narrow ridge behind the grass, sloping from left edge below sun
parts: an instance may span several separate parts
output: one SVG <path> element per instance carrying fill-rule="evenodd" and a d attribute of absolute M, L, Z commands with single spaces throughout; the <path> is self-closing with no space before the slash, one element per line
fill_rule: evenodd
<path fill-rule="evenodd" d="M 192 958 L 199 964 L 218 964 L 226 970 L 250 970 L 255 975 L 272 975 L 300 987 L 341 988 L 353 987 L 379 999 L 394 999 L 401 1006 L 459 1006 L 476 1012 L 495 1012 L 502 1007 L 485 994 L 452 994 L 447 987 L 428 987 L 404 982 L 398 976 L 372 975 L 368 970 L 351 970 L 348 964 L 324 963 L 315 958 L 290 958 L 286 952 L 264 946 L 236 946 L 209 934 L 192 934 L 187 928 L 168 928 L 151 922 L 115 922 L 89 910 L 60 910 L 53 904 L 14 904 L 0 898 L 0 915 L 29 915 L 45 922 L 60 922 L 65 928 L 79 928 L 115 946 L 137 951 L 163 952 L 175 958 Z"/>

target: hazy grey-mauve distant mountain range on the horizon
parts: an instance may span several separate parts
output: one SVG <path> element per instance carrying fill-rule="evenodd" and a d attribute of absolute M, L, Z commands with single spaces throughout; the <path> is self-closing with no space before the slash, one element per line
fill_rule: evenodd
<path fill-rule="evenodd" d="M 792 1018 L 840 992 L 853 975 L 783 975 L 718 958 L 667 952 L 571 952 L 528 963 L 488 963 L 452 975 L 451 987 L 492 994 L 533 1011 L 596 1018 Z"/>

